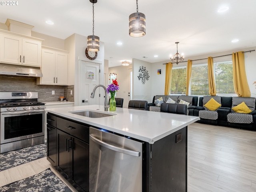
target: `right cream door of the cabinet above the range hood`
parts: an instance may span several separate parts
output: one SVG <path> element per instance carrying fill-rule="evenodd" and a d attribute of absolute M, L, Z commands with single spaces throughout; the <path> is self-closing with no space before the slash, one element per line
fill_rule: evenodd
<path fill-rule="evenodd" d="M 22 64 L 41 67 L 41 47 L 41 42 L 22 39 Z"/>

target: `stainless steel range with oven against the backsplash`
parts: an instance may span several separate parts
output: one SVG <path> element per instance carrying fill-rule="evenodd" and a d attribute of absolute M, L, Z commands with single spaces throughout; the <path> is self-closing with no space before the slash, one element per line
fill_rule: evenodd
<path fill-rule="evenodd" d="M 38 92 L 0 92 L 0 153 L 44 143 Z"/>

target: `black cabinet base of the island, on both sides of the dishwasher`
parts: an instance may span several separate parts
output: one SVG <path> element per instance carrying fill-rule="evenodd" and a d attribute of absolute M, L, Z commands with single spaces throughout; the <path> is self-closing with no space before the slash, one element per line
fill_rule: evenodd
<path fill-rule="evenodd" d="M 51 118 L 48 126 L 52 127 L 47 131 L 47 149 L 49 149 L 47 159 L 52 165 L 56 165 L 56 169 L 76 190 L 89 192 L 89 182 L 95 182 L 93 177 L 89 178 L 90 126 L 58 115 L 50 115 L 52 116 L 49 116 Z M 185 126 L 153 144 L 144 142 L 141 154 L 142 190 L 140 192 L 187 192 L 187 135 L 188 127 Z M 109 163 L 118 164 L 118 162 Z M 106 176 L 111 176 L 111 172 Z M 114 191 L 108 189 L 106 184 L 104 192 Z"/>

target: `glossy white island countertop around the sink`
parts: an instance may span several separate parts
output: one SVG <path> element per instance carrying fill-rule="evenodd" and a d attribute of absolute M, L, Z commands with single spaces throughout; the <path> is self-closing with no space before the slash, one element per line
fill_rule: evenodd
<path fill-rule="evenodd" d="M 196 116 L 119 107 L 117 107 L 114 112 L 105 112 L 104 106 L 100 105 L 52 108 L 45 110 L 46 112 L 51 112 L 72 120 L 130 136 L 138 140 L 149 142 L 150 144 L 200 120 L 200 118 Z M 92 110 L 115 115 L 102 118 L 89 118 L 70 113 L 83 110 Z"/>

